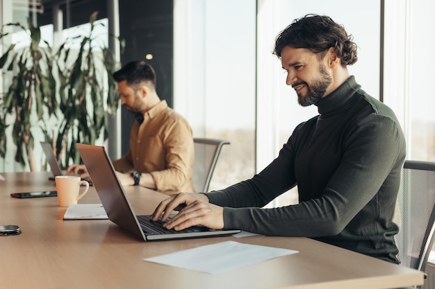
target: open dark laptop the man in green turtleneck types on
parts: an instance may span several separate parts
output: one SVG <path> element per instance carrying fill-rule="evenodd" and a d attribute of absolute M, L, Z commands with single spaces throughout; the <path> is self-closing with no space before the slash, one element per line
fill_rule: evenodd
<path fill-rule="evenodd" d="M 102 146 L 76 143 L 81 159 L 106 210 L 108 219 L 130 231 L 142 240 L 170 240 L 180 238 L 201 238 L 227 236 L 240 230 L 215 230 L 202 226 L 190 227 L 185 231 L 167 230 L 161 222 L 152 222 L 147 216 L 136 216 L 122 184 L 120 184 L 112 162 Z"/>

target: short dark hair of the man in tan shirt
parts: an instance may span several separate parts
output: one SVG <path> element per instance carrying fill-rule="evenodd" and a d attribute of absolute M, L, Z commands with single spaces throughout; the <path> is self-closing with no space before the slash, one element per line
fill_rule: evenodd
<path fill-rule="evenodd" d="M 156 71 L 145 61 L 132 61 L 124 65 L 122 69 L 113 73 L 116 82 L 127 80 L 127 85 L 136 86 L 142 82 L 151 82 L 156 88 Z"/>

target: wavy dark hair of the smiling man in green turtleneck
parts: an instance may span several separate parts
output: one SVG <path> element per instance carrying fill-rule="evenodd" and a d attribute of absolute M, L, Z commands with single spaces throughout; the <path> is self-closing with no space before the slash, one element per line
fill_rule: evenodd
<path fill-rule="evenodd" d="M 295 19 L 279 33 L 275 40 L 274 55 L 281 58 L 285 46 L 308 49 L 322 57 L 334 47 L 343 66 L 352 65 L 358 60 L 356 44 L 352 35 L 347 35 L 343 26 L 336 24 L 331 17 L 315 14 Z"/>

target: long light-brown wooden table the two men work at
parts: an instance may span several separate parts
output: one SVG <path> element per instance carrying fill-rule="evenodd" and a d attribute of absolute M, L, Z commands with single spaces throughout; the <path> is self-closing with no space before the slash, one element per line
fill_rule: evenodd
<path fill-rule="evenodd" d="M 421 285 L 423 274 L 309 238 L 252 236 L 143 242 L 109 220 L 63 220 L 56 198 L 16 199 L 10 193 L 54 190 L 48 173 L 0 173 L 0 225 L 22 234 L 0 236 L 0 288 L 400 288 Z M 166 195 L 131 186 L 136 214 L 151 213 Z M 80 201 L 99 203 L 95 189 Z M 295 249 L 218 274 L 142 259 L 201 245 L 240 243 Z"/>

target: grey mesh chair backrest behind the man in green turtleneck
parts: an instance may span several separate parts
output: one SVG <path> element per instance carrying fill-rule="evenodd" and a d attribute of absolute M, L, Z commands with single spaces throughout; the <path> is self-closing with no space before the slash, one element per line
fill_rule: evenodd
<path fill-rule="evenodd" d="M 400 263 L 425 271 L 434 243 L 435 163 L 405 161 L 397 200 L 402 220 L 396 235 Z"/>

